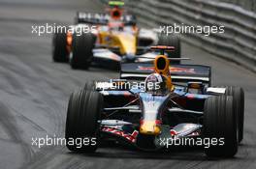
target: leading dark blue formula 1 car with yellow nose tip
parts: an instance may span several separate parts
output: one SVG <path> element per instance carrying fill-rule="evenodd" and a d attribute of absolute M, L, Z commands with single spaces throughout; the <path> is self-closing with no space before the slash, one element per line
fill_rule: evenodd
<path fill-rule="evenodd" d="M 243 135 L 243 90 L 210 87 L 207 66 L 174 65 L 170 69 L 170 60 L 176 59 L 163 54 L 174 47 L 151 49 L 161 52 L 153 64 L 124 64 L 120 77 L 126 79 L 87 83 L 71 95 L 66 139 L 94 141 L 80 147 L 67 144 L 67 148 L 92 153 L 100 143 L 114 139 L 157 151 L 174 146 L 174 140 L 189 140 L 196 143 L 192 146 L 208 143 L 204 146 L 208 156 L 236 155 Z"/>

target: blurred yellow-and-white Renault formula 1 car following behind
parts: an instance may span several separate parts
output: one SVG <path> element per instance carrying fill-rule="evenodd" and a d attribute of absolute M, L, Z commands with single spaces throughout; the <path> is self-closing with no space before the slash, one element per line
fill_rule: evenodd
<path fill-rule="evenodd" d="M 176 52 L 169 53 L 169 57 L 180 57 L 180 42 L 175 35 L 139 29 L 136 17 L 124 14 L 122 5 L 111 1 L 106 14 L 78 13 L 72 31 L 53 35 L 53 61 L 69 62 L 73 69 L 87 69 L 92 62 L 118 68 L 120 62 L 136 62 L 137 55 L 148 52 L 154 44 L 175 46 Z M 88 25 L 91 31 L 78 31 L 88 29 Z"/>

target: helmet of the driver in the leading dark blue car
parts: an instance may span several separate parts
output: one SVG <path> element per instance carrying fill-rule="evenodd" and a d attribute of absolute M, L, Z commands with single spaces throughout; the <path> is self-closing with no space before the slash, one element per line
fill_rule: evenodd
<path fill-rule="evenodd" d="M 166 78 L 159 73 L 152 73 L 145 78 L 145 91 L 154 95 L 162 95 L 168 91 Z"/>

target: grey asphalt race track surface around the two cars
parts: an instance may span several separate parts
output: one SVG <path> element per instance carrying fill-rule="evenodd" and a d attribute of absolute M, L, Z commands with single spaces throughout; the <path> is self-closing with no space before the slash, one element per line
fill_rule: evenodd
<path fill-rule="evenodd" d="M 51 60 L 51 35 L 32 34 L 32 25 L 71 24 L 77 11 L 99 12 L 96 0 L 0 0 L 0 168 L 256 168 L 256 74 L 182 43 L 182 55 L 212 66 L 213 85 L 245 91 L 244 140 L 235 158 L 208 160 L 201 150 L 153 154 L 119 146 L 95 155 L 64 146 L 32 146 L 35 137 L 63 137 L 69 95 L 86 81 L 118 76 L 113 70 L 71 70 Z"/>

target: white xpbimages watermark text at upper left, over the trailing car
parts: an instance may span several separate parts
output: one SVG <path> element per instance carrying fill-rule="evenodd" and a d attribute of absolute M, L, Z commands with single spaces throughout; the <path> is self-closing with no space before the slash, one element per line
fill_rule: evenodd
<path fill-rule="evenodd" d="M 56 23 L 53 24 L 43 24 L 43 25 L 32 25 L 31 26 L 31 33 L 36 34 L 38 36 L 43 36 L 45 34 L 56 34 L 56 33 L 76 33 L 77 36 L 81 36 L 82 34 L 91 33 L 96 31 L 95 25 L 80 25 L 80 26 L 64 26 L 64 25 L 57 25 Z"/>

